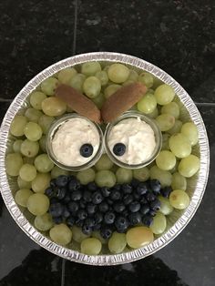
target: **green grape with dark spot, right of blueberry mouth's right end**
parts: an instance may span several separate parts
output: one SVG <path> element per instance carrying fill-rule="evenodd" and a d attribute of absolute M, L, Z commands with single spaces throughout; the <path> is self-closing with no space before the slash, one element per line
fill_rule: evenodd
<path fill-rule="evenodd" d="M 175 209 L 186 209 L 189 206 L 189 195 L 182 189 L 175 189 L 169 195 L 169 202 Z"/>

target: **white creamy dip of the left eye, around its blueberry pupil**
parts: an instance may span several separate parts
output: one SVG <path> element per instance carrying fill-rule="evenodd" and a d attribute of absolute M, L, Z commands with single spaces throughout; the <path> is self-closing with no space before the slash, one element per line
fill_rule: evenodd
<path fill-rule="evenodd" d="M 52 139 L 52 150 L 56 160 L 67 166 L 81 166 L 86 164 L 97 153 L 99 147 L 97 128 L 85 118 L 71 118 L 63 123 Z M 85 158 L 80 154 L 84 144 L 91 144 L 93 154 Z"/>

